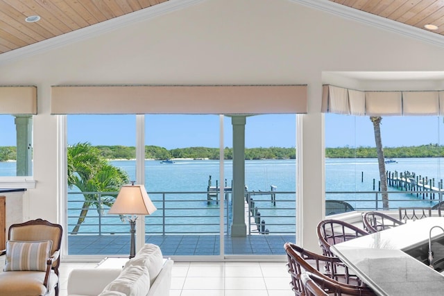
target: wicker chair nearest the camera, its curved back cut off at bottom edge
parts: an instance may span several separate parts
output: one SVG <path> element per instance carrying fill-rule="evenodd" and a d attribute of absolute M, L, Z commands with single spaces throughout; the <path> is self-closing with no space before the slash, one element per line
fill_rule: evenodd
<path fill-rule="evenodd" d="M 376 295 L 368 288 L 345 286 L 341 283 L 325 280 L 311 272 L 302 272 L 300 279 L 306 296 Z"/>

